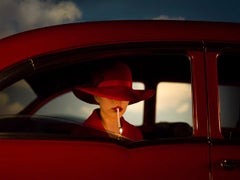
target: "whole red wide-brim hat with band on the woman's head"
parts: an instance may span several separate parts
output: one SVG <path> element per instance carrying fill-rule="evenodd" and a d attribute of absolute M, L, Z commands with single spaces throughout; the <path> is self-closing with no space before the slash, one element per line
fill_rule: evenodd
<path fill-rule="evenodd" d="M 98 104 L 94 96 L 129 101 L 129 104 L 133 104 L 149 99 L 155 93 L 154 90 L 133 89 L 131 71 L 126 64 L 120 62 L 106 66 L 93 78 L 92 84 L 77 86 L 73 89 L 75 96 L 91 104 Z"/>

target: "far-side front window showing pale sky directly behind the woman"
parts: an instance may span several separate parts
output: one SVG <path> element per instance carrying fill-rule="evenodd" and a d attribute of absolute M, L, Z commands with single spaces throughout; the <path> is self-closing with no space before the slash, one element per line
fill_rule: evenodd
<path fill-rule="evenodd" d="M 133 82 L 134 89 L 144 89 L 143 83 Z M 40 108 L 36 115 L 47 115 L 54 117 L 66 117 L 72 120 L 83 122 L 92 113 L 98 105 L 88 104 L 78 99 L 72 92 L 54 98 L 42 108 Z M 129 123 L 140 126 L 143 124 L 143 102 L 132 104 L 128 106 L 124 114 Z M 131 121 L 130 121 L 131 120 Z"/>

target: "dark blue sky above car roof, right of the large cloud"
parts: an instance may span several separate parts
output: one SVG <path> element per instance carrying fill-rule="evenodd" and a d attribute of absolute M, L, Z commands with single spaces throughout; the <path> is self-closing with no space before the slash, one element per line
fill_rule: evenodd
<path fill-rule="evenodd" d="M 152 19 L 159 16 L 185 20 L 240 22 L 239 0 L 74 0 L 83 21 Z"/>

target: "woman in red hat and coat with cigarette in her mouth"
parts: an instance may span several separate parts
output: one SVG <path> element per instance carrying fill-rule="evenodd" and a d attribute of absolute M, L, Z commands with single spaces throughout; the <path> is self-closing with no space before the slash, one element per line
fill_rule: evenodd
<path fill-rule="evenodd" d="M 93 77 L 93 83 L 76 87 L 73 92 L 81 100 L 98 104 L 85 126 L 110 134 L 126 137 L 130 140 L 143 139 L 141 131 L 128 123 L 123 114 L 127 106 L 153 96 L 153 90 L 132 89 L 132 74 L 129 67 L 116 62 L 100 69 Z"/>

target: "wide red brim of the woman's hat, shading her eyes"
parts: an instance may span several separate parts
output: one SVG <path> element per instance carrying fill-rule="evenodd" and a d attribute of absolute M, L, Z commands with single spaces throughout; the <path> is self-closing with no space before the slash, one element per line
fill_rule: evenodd
<path fill-rule="evenodd" d="M 98 104 L 94 96 L 101 96 L 119 101 L 129 101 L 129 104 L 134 104 L 142 100 L 149 99 L 155 93 L 153 90 L 135 90 L 128 87 L 76 87 L 73 93 L 79 99 L 90 103 Z"/>

